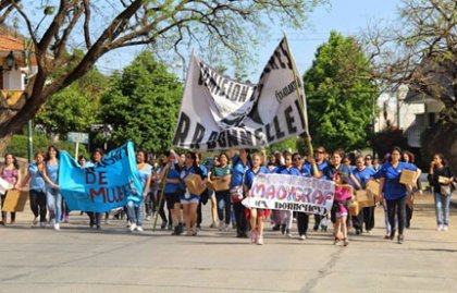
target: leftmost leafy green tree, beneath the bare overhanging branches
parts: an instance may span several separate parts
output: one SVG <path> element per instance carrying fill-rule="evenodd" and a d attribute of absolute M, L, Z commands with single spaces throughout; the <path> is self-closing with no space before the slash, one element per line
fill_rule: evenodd
<path fill-rule="evenodd" d="M 84 77 L 53 95 L 36 115 L 35 123 L 45 126 L 47 133 L 65 136 L 67 132 L 87 132 L 99 123 L 100 98 L 108 77 L 90 70 Z"/>

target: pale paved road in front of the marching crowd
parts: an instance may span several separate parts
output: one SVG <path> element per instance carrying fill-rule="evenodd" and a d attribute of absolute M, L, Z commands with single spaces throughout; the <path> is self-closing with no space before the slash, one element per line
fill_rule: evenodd
<path fill-rule="evenodd" d="M 257 246 L 209 228 L 195 237 L 152 233 L 151 222 L 145 234 L 126 233 L 121 221 L 97 232 L 78 213 L 53 231 L 30 228 L 32 215 L 21 213 L 0 228 L 0 292 L 457 292 L 457 228 L 436 232 L 431 203 L 417 202 L 405 244 L 383 240 L 378 208 L 379 228 L 347 247 L 330 232 L 300 242 L 269 224 Z"/>

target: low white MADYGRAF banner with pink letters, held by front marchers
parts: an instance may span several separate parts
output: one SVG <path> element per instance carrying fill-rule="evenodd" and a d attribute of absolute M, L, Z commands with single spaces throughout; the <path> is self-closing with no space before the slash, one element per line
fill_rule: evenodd
<path fill-rule="evenodd" d="M 332 209 L 335 183 L 314 178 L 258 174 L 242 203 L 247 208 L 326 215 Z"/>

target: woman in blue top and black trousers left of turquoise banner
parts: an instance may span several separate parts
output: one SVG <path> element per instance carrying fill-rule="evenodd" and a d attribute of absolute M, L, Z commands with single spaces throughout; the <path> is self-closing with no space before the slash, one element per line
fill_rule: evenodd
<path fill-rule="evenodd" d="M 21 188 L 27 184 L 29 181 L 29 196 L 30 196 L 30 209 L 34 212 L 35 219 L 33 224 L 38 223 L 40 227 L 46 227 L 46 190 L 45 190 L 45 179 L 42 173 L 45 172 L 45 154 L 38 151 L 35 154 L 35 163 L 28 164 L 28 173 L 25 175 L 24 180 L 21 182 Z"/>

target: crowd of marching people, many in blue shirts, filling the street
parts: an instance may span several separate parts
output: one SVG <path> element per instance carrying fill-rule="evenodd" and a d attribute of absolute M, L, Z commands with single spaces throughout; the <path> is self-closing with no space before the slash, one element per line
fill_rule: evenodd
<path fill-rule="evenodd" d="M 102 149 L 95 149 L 90 158 L 81 156 L 81 168 L 97 167 L 103 158 Z M 353 161 L 354 160 L 354 161 Z M 357 215 L 349 212 L 349 205 L 356 200 L 356 191 L 363 191 L 370 181 L 379 183 L 380 207 L 385 216 L 385 239 L 405 240 L 405 229 L 411 225 L 413 205 L 408 200 L 422 191 L 419 170 L 415 156 L 394 147 L 380 162 L 372 156 L 350 158 L 343 149 L 328 154 L 318 147 L 314 156 L 283 152 L 251 152 L 249 149 L 220 152 L 203 163 L 200 152 L 186 151 L 178 155 L 164 151 L 160 156 L 149 156 L 145 150 L 136 151 L 137 172 L 144 187 L 137 200 L 111 212 L 87 212 L 89 227 L 101 229 L 102 218 L 108 223 L 111 217 L 127 221 L 128 231 L 144 231 L 144 220 L 151 221 L 153 216 L 161 218 L 161 230 L 170 230 L 172 235 L 197 235 L 201 230 L 202 205 L 211 206 L 210 228 L 222 231 L 235 229 L 237 237 L 250 239 L 251 243 L 263 244 L 264 225 L 293 237 L 294 222 L 297 224 L 296 237 L 304 241 L 308 236 L 309 218 L 313 217 L 313 231 L 328 231 L 333 223 L 334 244 L 349 244 L 348 231 L 356 234 L 370 234 L 375 227 L 374 206 L 363 207 Z M 316 163 L 316 164 L 314 164 Z M 69 222 L 70 210 L 59 186 L 59 150 L 50 146 L 47 152 L 38 151 L 35 162 L 28 164 L 22 176 L 20 167 L 12 154 L 7 154 L 0 176 L 15 190 L 28 185 L 29 204 L 34 213 L 34 225 L 51 227 L 60 230 L 62 222 Z M 415 171 L 417 184 L 406 186 L 400 183 L 404 170 Z M 449 205 L 455 188 L 455 176 L 441 154 L 435 154 L 430 163 L 428 180 L 433 188 L 436 212 L 436 229 L 449 228 Z M 246 208 L 242 200 L 249 196 L 252 182 L 259 174 L 283 174 L 307 176 L 335 182 L 334 203 L 326 216 L 308 215 L 291 210 L 267 210 Z M 196 193 L 186 186 L 189 175 L 201 179 Z M 1 195 L 1 205 L 8 192 Z M 10 213 L 10 224 L 15 222 L 15 212 Z M 157 219 L 157 218 L 156 218 Z M 8 215 L 2 211 L 1 224 L 8 224 Z M 378 224 L 379 225 L 379 224 Z"/>

